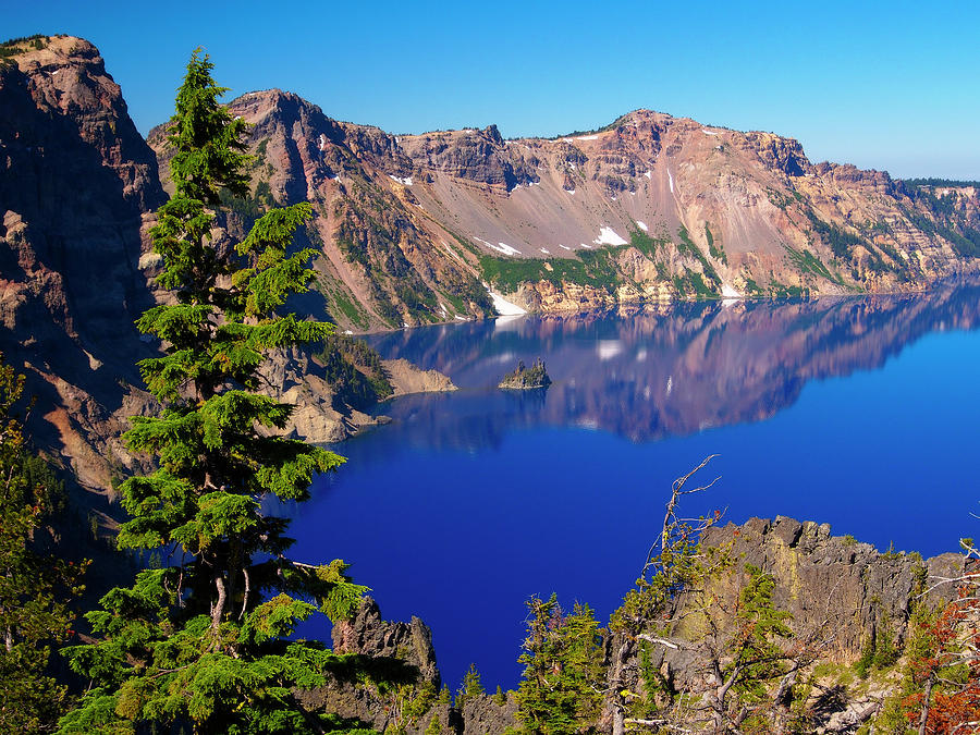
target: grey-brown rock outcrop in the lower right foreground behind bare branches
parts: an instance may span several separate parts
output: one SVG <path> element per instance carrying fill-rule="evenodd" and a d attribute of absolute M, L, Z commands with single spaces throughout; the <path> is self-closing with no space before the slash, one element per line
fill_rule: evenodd
<path fill-rule="evenodd" d="M 796 657 L 798 681 L 808 682 L 792 696 L 800 718 L 798 732 L 868 732 L 866 723 L 882 710 L 885 699 L 897 696 L 901 675 L 893 671 L 862 682 L 852 666 L 862 656 L 878 660 L 883 651 L 889 651 L 889 666 L 901 663 L 915 608 L 940 608 L 955 598 L 951 586 L 933 583 L 963 574 L 965 564 L 961 554 L 923 561 L 918 554 L 881 553 L 852 537 L 831 536 L 828 525 L 785 517 L 713 527 L 702 535 L 701 542 L 702 549 L 728 554 L 728 571 L 710 578 L 707 596 L 703 590 L 682 596 L 675 623 L 666 634 L 662 627 L 651 626 L 653 636 L 666 635 L 677 645 L 651 645 L 646 663 L 630 645 L 634 639 L 613 635 L 608 649 L 612 653 L 610 685 L 622 687 L 625 683 L 627 690 L 641 691 L 644 676 L 657 672 L 677 695 L 705 693 L 715 652 L 721 650 L 722 660 L 727 656 L 725 648 L 715 647 L 737 638 L 730 635 L 738 625 L 735 601 L 749 584 L 747 565 L 751 565 L 773 579 L 775 610 L 789 613 L 792 634 L 785 639 L 785 650 Z M 713 601 L 708 608 L 706 599 Z M 711 690 L 710 683 L 707 690 Z M 691 711 L 689 716 L 696 720 L 700 714 Z M 858 731 L 861 725 L 866 728 Z M 599 730 L 611 728 L 612 711 L 608 710 Z"/>

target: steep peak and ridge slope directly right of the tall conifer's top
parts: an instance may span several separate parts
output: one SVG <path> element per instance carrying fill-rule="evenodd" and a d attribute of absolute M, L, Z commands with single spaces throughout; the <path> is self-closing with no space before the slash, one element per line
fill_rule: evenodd
<path fill-rule="evenodd" d="M 359 330 L 492 314 L 475 257 L 451 257 L 452 235 L 415 200 L 413 163 L 396 138 L 330 120 L 279 90 L 250 93 L 230 107 L 253 125 L 256 197 L 246 219 L 272 200 L 314 205 L 306 234 L 322 253 L 314 264 L 322 297 L 308 310 Z M 164 130 L 149 142 L 166 166 Z"/>

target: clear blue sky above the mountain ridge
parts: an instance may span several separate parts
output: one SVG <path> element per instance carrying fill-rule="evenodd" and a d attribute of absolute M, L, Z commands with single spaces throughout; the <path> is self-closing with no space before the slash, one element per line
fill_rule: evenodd
<path fill-rule="evenodd" d="M 393 133 L 555 135 L 645 107 L 813 161 L 980 179 L 975 2 L 0 0 L 0 19 L 95 42 L 144 133 L 204 46 L 233 95 L 281 87 Z"/>

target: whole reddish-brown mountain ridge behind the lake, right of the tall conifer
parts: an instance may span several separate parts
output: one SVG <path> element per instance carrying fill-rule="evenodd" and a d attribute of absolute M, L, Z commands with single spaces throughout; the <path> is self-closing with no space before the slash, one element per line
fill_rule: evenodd
<path fill-rule="evenodd" d="M 256 204 L 316 205 L 321 291 L 352 329 L 486 314 L 475 279 L 548 311 L 915 291 L 980 255 L 976 187 L 814 166 L 770 133 L 639 110 L 558 139 L 392 136 L 279 90 L 231 109 L 255 125 Z"/>

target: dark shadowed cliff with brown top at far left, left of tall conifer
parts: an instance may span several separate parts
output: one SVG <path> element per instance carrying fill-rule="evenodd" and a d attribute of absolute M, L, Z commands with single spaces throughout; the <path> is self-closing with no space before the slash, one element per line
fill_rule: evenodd
<path fill-rule="evenodd" d="M 140 272 L 157 160 L 87 41 L 7 47 L 0 66 L 0 348 L 38 396 L 34 437 L 79 480 L 131 462 L 123 417 L 145 409 L 133 320 L 154 303 Z"/>

